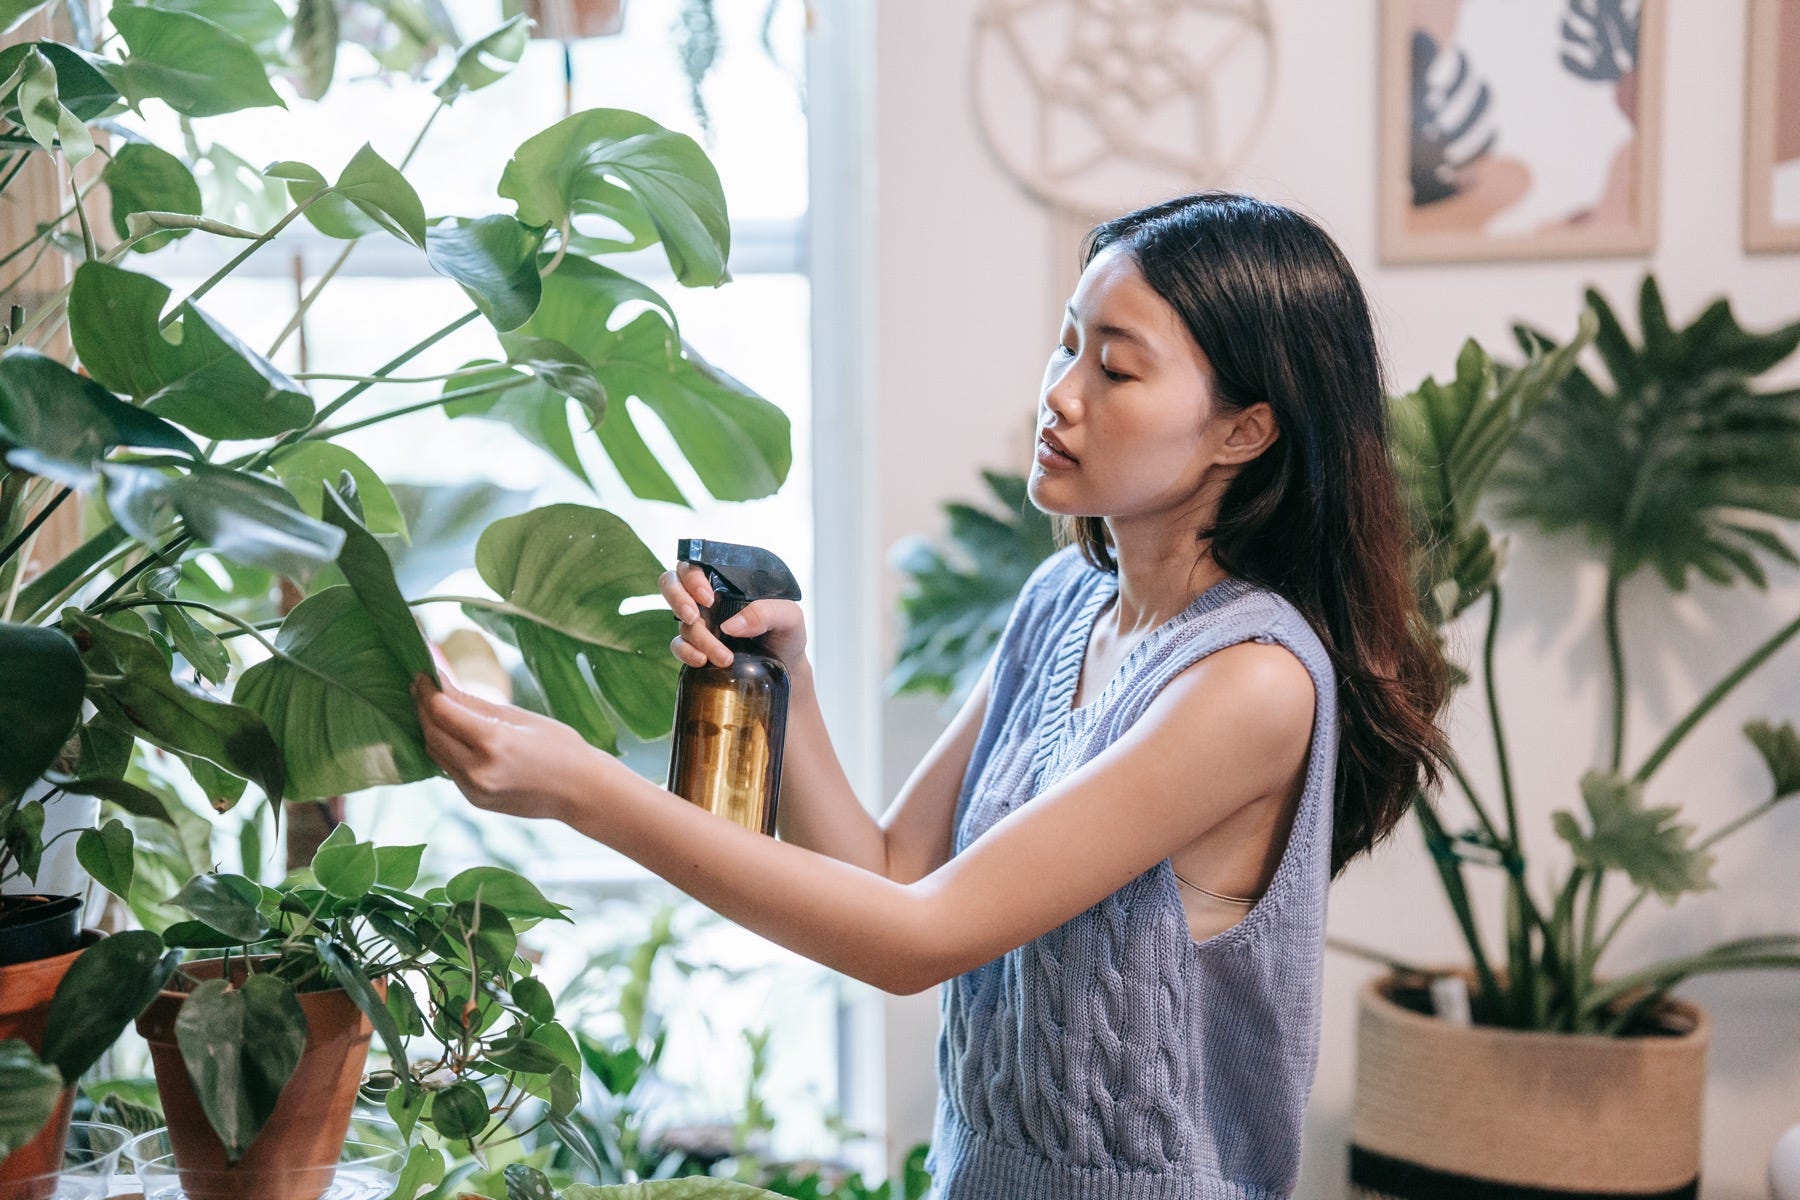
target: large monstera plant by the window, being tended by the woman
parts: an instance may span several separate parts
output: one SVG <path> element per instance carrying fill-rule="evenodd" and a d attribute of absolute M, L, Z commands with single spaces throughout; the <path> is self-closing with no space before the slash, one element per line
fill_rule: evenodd
<path fill-rule="evenodd" d="M 7 0 L 0 25 L 41 7 Z M 220 811 L 437 774 L 409 696 L 414 673 L 434 673 L 423 604 L 457 604 L 513 644 L 544 705 L 596 747 L 616 750 L 621 729 L 664 734 L 670 622 L 621 612 L 655 596 L 662 563 L 626 520 L 587 504 L 515 513 L 475 543 L 488 592 L 403 590 L 396 556 L 419 549 L 405 545 L 405 495 L 337 439 L 430 410 L 504 421 L 581 479 L 578 448 L 592 444 L 635 497 L 686 504 L 626 408 L 635 398 L 715 498 L 776 491 L 790 464 L 783 412 L 688 345 L 664 297 L 607 264 L 659 246 L 684 286 L 729 281 L 725 198 L 702 149 L 635 112 L 578 112 L 520 140 L 495 180 L 504 212 L 430 214 L 410 160 L 443 108 L 481 103 L 520 59 L 524 18 L 436 56 L 446 27 L 400 40 L 436 104 L 398 158 L 365 144 L 344 164 L 310 164 L 261 146 L 254 167 L 209 144 L 203 119 L 322 92 L 326 59 L 355 32 L 324 20 L 331 5 L 158 0 L 101 20 L 68 7 L 70 40 L 0 50 L 0 189 L 45 160 L 83 164 L 85 180 L 67 212 L 0 246 L 0 266 L 27 272 L 49 254 L 72 259 L 67 286 L 7 284 L 0 308 L 7 860 L 36 864 L 45 804 L 65 793 L 117 804 L 140 837 L 193 838 L 171 772 Z M 407 25 L 409 5 L 380 7 Z M 182 144 L 146 133 L 153 106 L 180 115 Z M 85 164 L 95 157 L 104 169 Z M 297 221 L 344 248 L 257 349 L 209 293 Z M 241 250 L 175 295 L 155 255 L 196 237 Z M 290 374 L 281 344 L 364 239 L 419 255 L 466 311 L 378 362 Z M 477 342 L 466 365 L 409 371 L 454 335 Z M 421 378 L 441 380 L 437 396 L 382 405 L 385 387 Z M 77 504 L 79 543 L 38 554 L 45 522 Z M 83 862 L 158 928 L 184 918 L 171 901 L 185 880 L 133 882 L 117 865 L 131 858 L 121 833 L 83 838 Z M 369 993 L 351 999 L 383 1022 Z"/>

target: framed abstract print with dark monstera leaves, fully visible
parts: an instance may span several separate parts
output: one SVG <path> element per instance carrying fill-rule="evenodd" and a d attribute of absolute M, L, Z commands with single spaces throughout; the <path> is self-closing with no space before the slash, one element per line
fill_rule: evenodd
<path fill-rule="evenodd" d="M 1663 0 L 1382 0 L 1381 261 L 1656 248 Z"/>

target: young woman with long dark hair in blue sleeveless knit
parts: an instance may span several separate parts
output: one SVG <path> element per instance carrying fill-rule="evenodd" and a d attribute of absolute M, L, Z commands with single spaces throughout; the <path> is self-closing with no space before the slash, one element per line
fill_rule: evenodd
<path fill-rule="evenodd" d="M 1030 495 L 1064 549 L 877 820 L 792 601 L 781 840 L 567 727 L 416 682 L 479 806 L 547 817 L 895 993 L 947 984 L 943 1200 L 1271 1200 L 1298 1177 L 1325 892 L 1438 781 L 1368 304 L 1318 225 L 1206 193 L 1094 228 L 1049 351 Z M 729 662 L 697 569 L 675 655 Z"/>

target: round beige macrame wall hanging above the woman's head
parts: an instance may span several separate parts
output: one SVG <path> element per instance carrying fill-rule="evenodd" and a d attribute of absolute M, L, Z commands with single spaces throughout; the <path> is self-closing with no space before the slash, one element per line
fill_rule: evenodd
<path fill-rule="evenodd" d="M 1053 286 L 1094 221 L 1220 185 L 1274 97 L 1267 0 L 988 0 L 970 95 L 1001 169 L 1049 209 Z"/>

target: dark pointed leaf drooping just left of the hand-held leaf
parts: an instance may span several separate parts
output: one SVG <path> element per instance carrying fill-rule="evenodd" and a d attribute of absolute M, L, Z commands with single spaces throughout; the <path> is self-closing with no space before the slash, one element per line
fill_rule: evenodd
<path fill-rule="evenodd" d="M 117 617 L 121 624 L 124 615 Z M 164 750 L 211 759 L 256 781 L 272 801 L 281 799 L 281 752 L 254 711 L 173 678 L 162 653 L 142 631 L 72 608 L 65 610 L 63 624 L 85 646 L 88 666 L 103 676 L 90 698 L 108 720 Z"/>

